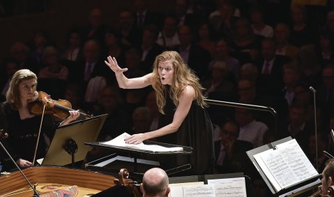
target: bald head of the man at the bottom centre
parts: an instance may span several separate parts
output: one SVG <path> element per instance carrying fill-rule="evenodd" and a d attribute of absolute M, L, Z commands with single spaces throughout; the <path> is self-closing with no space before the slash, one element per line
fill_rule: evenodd
<path fill-rule="evenodd" d="M 168 175 L 161 168 L 151 168 L 144 173 L 143 182 L 140 190 L 143 197 L 162 197 L 168 196 L 169 188 Z"/>

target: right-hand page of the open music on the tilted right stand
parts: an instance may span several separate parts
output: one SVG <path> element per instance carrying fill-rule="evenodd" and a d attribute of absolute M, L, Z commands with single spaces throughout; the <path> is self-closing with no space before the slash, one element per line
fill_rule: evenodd
<path fill-rule="evenodd" d="M 298 145 L 296 139 L 276 145 L 276 147 L 280 150 L 284 160 L 289 163 L 294 175 L 298 177 L 298 182 L 307 180 L 315 175 L 319 175 L 317 170 L 312 166 L 308 157 L 303 152 L 303 149 L 301 149 Z"/>

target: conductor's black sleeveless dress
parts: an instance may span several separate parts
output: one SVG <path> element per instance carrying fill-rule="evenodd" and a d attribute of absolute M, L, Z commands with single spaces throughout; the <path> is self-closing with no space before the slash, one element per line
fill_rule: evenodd
<path fill-rule="evenodd" d="M 167 93 L 165 115 L 159 115 L 158 128 L 172 123 L 175 110 L 176 106 Z M 206 109 L 197 105 L 196 101 L 192 101 L 188 115 L 183 120 L 179 130 L 157 140 L 162 143 L 192 147 L 191 156 L 176 156 L 176 161 L 168 161 L 169 163 L 176 162 L 177 166 L 190 163 L 191 171 L 196 175 L 212 170 L 215 161 L 213 125 Z"/>

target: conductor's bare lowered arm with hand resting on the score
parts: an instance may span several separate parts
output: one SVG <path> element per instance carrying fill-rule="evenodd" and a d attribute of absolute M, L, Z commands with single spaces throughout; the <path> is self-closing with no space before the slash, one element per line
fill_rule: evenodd
<path fill-rule="evenodd" d="M 174 133 L 179 129 L 183 120 L 188 115 L 192 100 L 194 98 L 195 98 L 195 89 L 192 88 L 191 86 L 185 87 L 180 95 L 179 105 L 176 108 L 173 117 L 173 122 L 171 124 L 167 124 L 166 126 L 155 131 L 132 135 L 126 138 L 126 143 L 139 144 L 142 143 L 142 141 L 144 140 L 165 136 L 169 133 Z"/>

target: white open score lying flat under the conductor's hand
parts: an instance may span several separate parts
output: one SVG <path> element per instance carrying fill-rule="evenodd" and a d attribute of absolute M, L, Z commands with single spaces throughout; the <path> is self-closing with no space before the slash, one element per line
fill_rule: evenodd
<path fill-rule="evenodd" d="M 107 142 L 103 142 L 101 144 L 104 145 L 112 145 L 117 147 L 127 147 L 132 149 L 141 149 L 151 152 L 175 152 L 175 151 L 183 151 L 183 147 L 162 147 L 160 145 L 145 145 L 144 143 L 140 143 L 138 145 L 126 144 L 125 139 L 130 136 L 128 133 L 123 133 L 120 136 L 109 140 Z"/>

